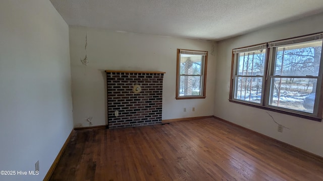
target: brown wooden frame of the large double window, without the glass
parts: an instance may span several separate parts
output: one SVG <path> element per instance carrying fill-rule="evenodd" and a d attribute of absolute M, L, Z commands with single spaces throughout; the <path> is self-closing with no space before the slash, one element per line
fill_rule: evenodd
<path fill-rule="evenodd" d="M 287 109 L 287 108 L 282 108 L 282 107 L 277 107 L 270 105 L 270 95 L 271 95 L 271 78 L 276 77 L 277 75 L 274 75 L 275 72 L 275 65 L 276 65 L 276 54 L 277 54 L 277 49 L 280 46 L 288 46 L 288 45 L 293 45 L 297 43 L 302 43 L 302 42 L 309 42 L 311 40 L 307 40 L 308 37 L 313 37 L 313 36 L 319 36 L 318 39 L 316 40 L 322 40 L 323 39 L 323 32 L 320 33 L 315 33 L 315 34 L 310 34 L 310 35 L 305 35 L 305 36 L 299 36 L 295 38 L 289 38 L 289 39 L 284 39 L 284 40 L 279 40 L 275 42 L 268 42 L 266 43 L 268 46 L 266 48 L 266 56 L 265 56 L 265 65 L 264 65 L 264 79 L 262 82 L 262 94 L 261 94 L 261 100 L 260 104 L 250 102 L 250 101 L 244 101 L 244 100 L 239 100 L 235 99 L 235 76 L 239 73 L 237 68 L 238 68 L 238 57 L 239 53 L 234 53 L 236 50 L 243 50 L 243 49 L 248 49 L 252 47 L 257 47 L 261 44 L 257 45 L 252 45 L 252 46 L 245 46 L 241 47 L 238 49 L 233 49 L 232 50 L 232 63 L 231 63 L 231 78 L 230 78 L 230 93 L 229 93 L 229 101 L 232 103 L 238 103 L 246 106 L 251 106 L 255 108 L 260 108 L 268 111 L 274 111 L 274 112 L 279 112 L 291 116 L 296 116 L 296 117 L 301 117 L 309 120 L 314 120 L 314 121 L 319 121 L 321 122 L 322 120 L 322 112 L 323 112 L 323 98 L 322 98 L 322 90 L 323 90 L 323 51 L 321 51 L 321 57 L 320 57 L 320 65 L 319 65 L 319 72 L 317 76 L 317 84 L 316 84 L 316 92 L 315 92 L 315 101 L 314 101 L 314 108 L 313 108 L 313 113 L 306 113 L 302 111 L 297 111 L 293 109 Z M 290 43 L 289 43 L 290 42 Z M 285 43 L 285 44 L 284 44 Z M 289 44 L 287 44 L 289 43 Z M 275 45 L 276 44 L 276 45 Z M 277 45 L 278 44 L 278 45 Z M 323 45 L 323 41 L 322 41 Z M 323 49 L 323 46 L 321 50 Z M 278 77 L 290 77 L 290 76 L 278 76 Z M 310 76 L 308 78 L 311 78 Z"/>

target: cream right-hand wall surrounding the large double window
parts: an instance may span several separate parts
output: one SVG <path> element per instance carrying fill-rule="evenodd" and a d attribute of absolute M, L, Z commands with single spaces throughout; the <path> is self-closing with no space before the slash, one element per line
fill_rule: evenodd
<path fill-rule="evenodd" d="M 280 133 L 277 131 L 278 125 L 273 122 L 265 110 L 228 101 L 232 49 L 322 32 L 322 21 L 323 14 L 320 14 L 218 42 L 214 115 L 323 156 L 323 123 L 267 111 L 278 123 L 290 128 L 284 129 L 283 133 Z"/>

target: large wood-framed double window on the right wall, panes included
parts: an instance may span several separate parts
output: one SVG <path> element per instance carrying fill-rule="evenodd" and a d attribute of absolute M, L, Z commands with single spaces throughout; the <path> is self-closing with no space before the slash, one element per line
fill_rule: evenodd
<path fill-rule="evenodd" d="M 321 120 L 323 33 L 233 50 L 230 101 Z"/>

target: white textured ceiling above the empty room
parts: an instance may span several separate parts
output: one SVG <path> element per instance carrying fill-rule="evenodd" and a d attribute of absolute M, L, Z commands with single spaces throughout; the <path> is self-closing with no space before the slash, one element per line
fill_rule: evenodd
<path fill-rule="evenodd" d="M 323 12 L 322 0 L 50 0 L 68 25 L 222 40 Z"/>

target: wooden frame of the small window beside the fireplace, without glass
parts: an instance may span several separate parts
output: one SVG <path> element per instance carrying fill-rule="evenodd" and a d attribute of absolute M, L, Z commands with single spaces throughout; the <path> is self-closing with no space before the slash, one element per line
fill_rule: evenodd
<path fill-rule="evenodd" d="M 201 80 L 201 95 L 196 96 L 180 96 L 180 76 L 186 76 L 185 74 L 180 75 L 180 62 L 181 62 L 181 51 L 189 52 L 194 55 L 195 53 L 206 53 L 204 56 L 204 59 L 201 60 L 201 74 L 200 75 L 190 75 L 190 76 L 200 76 Z M 187 49 L 177 49 L 177 63 L 176 63 L 176 100 L 184 100 L 184 99 L 205 99 L 206 98 L 206 70 L 207 70 L 207 56 L 208 51 L 200 51 L 200 50 L 187 50 Z"/>

